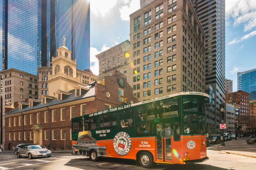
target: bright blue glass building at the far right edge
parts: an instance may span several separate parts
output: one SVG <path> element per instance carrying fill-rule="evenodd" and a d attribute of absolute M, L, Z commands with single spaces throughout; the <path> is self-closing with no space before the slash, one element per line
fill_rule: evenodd
<path fill-rule="evenodd" d="M 237 91 L 250 93 L 250 100 L 256 99 L 256 68 L 237 73 Z"/>

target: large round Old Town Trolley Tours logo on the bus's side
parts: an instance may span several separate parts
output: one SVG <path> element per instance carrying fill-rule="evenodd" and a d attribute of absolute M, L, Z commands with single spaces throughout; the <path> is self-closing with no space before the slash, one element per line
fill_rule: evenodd
<path fill-rule="evenodd" d="M 132 141 L 130 136 L 125 132 L 119 132 L 114 137 L 114 149 L 118 155 L 124 156 L 131 150 Z"/>

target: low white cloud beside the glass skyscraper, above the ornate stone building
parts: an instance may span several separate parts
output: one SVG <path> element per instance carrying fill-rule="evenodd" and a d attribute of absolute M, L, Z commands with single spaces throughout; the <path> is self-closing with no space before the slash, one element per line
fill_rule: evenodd
<path fill-rule="evenodd" d="M 100 51 L 98 51 L 98 49 L 95 47 L 90 47 L 90 69 L 94 74 L 99 75 L 99 60 L 96 58 L 95 55 L 106 51 L 109 48 L 110 47 L 106 46 L 105 44 L 103 44 Z"/>

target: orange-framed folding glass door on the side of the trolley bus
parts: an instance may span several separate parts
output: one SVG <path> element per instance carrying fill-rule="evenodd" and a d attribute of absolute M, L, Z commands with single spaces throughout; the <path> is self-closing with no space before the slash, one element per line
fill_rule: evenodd
<path fill-rule="evenodd" d="M 157 161 L 171 162 L 171 124 L 158 123 L 156 125 Z"/>

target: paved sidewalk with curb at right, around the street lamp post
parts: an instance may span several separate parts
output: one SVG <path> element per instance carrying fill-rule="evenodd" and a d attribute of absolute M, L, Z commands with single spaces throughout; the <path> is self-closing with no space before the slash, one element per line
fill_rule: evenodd
<path fill-rule="evenodd" d="M 237 137 L 237 140 L 232 139 L 225 142 L 225 146 L 217 145 L 216 149 L 225 153 L 256 158 L 256 144 L 247 144 L 246 139 L 249 139 L 249 137 Z"/>

